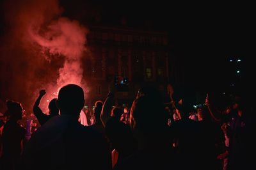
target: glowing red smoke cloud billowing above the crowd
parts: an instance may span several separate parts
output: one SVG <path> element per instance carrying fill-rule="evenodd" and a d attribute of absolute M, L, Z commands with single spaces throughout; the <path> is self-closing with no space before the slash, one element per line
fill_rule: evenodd
<path fill-rule="evenodd" d="M 47 108 L 46 100 L 56 98 L 61 86 L 84 87 L 81 58 L 86 52 L 86 29 L 76 20 L 60 17 L 56 0 L 6 2 L 8 30 L 1 44 L 1 71 L 7 73 L 1 73 L 6 84 L 0 84 L 0 99 L 17 100 L 30 110 L 38 91 L 46 89 L 42 105 Z"/>

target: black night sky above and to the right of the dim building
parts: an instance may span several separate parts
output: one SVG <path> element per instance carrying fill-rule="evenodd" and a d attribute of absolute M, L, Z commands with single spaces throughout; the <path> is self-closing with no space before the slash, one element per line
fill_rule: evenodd
<path fill-rule="evenodd" d="M 255 54 L 251 43 L 255 12 L 250 4 L 76 0 L 61 1 L 61 5 L 65 8 L 63 15 L 84 24 L 88 20 L 104 26 L 120 26 L 125 19 L 127 27 L 167 31 L 171 54 L 184 62 L 186 83 L 191 86 L 201 88 L 232 82 L 227 77 L 236 68 L 228 63 L 230 58 L 243 60 L 239 66 L 244 69 L 243 78 L 252 72 L 249 63 Z"/>

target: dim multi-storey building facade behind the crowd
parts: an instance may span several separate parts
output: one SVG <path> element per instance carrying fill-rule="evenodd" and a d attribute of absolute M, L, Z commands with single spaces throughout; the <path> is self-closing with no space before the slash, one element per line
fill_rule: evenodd
<path fill-rule="evenodd" d="M 117 89 L 116 105 L 131 106 L 141 84 L 153 84 L 166 93 L 173 70 L 167 33 L 91 26 L 87 41 L 83 62 L 89 107 L 97 100 L 104 102 L 116 76 L 125 78 L 121 84 L 129 82 L 124 89 Z"/>

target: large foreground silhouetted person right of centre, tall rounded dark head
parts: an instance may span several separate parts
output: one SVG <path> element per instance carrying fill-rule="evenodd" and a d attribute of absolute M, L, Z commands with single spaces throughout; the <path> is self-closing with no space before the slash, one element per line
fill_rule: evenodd
<path fill-rule="evenodd" d="M 115 169 L 175 169 L 168 115 L 154 89 L 134 100 L 130 126 L 138 140 L 138 152 L 116 164 Z"/>

